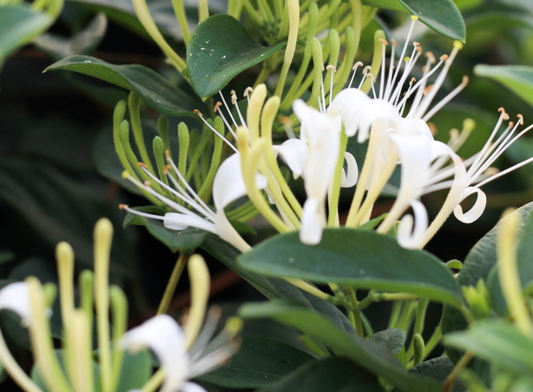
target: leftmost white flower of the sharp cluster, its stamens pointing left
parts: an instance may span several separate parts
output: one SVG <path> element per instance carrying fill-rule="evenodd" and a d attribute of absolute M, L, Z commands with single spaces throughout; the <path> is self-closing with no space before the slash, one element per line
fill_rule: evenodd
<path fill-rule="evenodd" d="M 157 182 L 162 188 L 168 190 L 174 196 L 185 201 L 190 207 L 194 208 L 196 212 L 193 212 L 187 207 L 184 207 L 156 192 L 149 186 L 149 184 L 143 184 L 132 177 L 128 177 L 128 179 L 176 212 L 167 212 L 164 216 L 161 216 L 137 211 L 125 205 L 122 205 L 121 208 L 135 215 L 161 220 L 167 229 L 184 230 L 188 227 L 196 227 L 218 235 L 220 238 L 229 242 L 241 251 L 248 249 L 248 244 L 237 233 L 235 228 L 228 221 L 224 212 L 224 208 L 230 203 L 246 195 L 246 187 L 242 179 L 239 153 L 237 152 L 227 158 L 220 165 L 215 175 L 213 182 L 213 200 L 216 212 L 213 212 L 211 208 L 200 199 L 192 187 L 187 184 L 185 178 L 180 173 L 172 159 L 167 157 L 167 160 L 172 169 L 172 171 L 169 170 L 167 172 L 167 176 L 173 183 L 174 188 L 165 184 L 151 174 L 146 168 L 143 167 L 143 169 L 153 181 Z M 175 178 L 172 173 L 178 178 Z M 259 189 L 263 189 L 266 186 L 266 178 L 264 178 L 264 176 L 257 175 L 256 181 Z M 181 184 L 184 184 L 184 186 Z"/>

